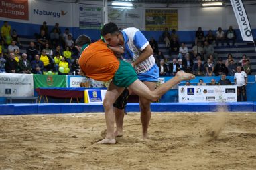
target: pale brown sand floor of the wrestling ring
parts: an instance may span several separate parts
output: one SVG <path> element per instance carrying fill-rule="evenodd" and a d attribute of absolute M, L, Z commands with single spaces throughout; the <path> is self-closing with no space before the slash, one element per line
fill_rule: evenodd
<path fill-rule="evenodd" d="M 103 113 L 0 116 L 0 169 L 256 169 L 256 113 L 125 116 L 115 145 L 97 145 Z"/>

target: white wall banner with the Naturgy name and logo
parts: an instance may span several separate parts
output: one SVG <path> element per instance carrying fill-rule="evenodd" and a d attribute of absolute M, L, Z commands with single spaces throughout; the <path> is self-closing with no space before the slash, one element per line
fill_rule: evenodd
<path fill-rule="evenodd" d="M 30 5 L 30 23 L 42 25 L 44 21 L 47 21 L 47 25 L 55 25 L 55 23 L 59 23 L 62 27 L 72 27 L 73 25 L 72 3 L 30 1 Z"/>

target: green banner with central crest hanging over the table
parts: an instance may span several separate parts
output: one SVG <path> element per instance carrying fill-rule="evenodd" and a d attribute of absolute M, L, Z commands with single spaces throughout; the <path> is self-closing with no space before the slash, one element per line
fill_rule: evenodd
<path fill-rule="evenodd" d="M 38 87 L 67 87 L 66 75 L 33 75 L 34 89 Z"/>

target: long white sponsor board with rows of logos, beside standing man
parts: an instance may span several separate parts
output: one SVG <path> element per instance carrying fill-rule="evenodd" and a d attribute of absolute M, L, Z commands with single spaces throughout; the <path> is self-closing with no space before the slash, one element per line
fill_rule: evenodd
<path fill-rule="evenodd" d="M 235 102 L 237 86 L 179 86 L 179 102 Z"/>

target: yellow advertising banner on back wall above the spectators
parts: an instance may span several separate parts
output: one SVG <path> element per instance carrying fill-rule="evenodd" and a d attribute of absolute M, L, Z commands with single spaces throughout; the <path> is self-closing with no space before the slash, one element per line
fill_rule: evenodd
<path fill-rule="evenodd" d="M 166 27 L 178 30 L 178 10 L 146 9 L 145 27 L 146 31 L 164 31 Z"/>

